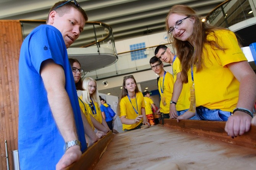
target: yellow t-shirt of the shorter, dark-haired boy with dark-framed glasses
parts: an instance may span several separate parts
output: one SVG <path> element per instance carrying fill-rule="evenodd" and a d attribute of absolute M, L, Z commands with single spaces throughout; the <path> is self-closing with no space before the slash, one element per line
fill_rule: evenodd
<path fill-rule="evenodd" d="M 164 88 L 163 88 L 163 79 L 164 79 Z M 173 77 L 172 77 L 172 74 L 170 74 L 169 72 L 166 72 L 165 78 L 163 76 L 163 77 L 160 77 L 158 80 L 159 93 L 161 96 L 164 95 L 165 103 L 166 103 L 166 105 L 164 106 L 162 101 L 160 101 L 160 112 L 164 114 L 170 113 L 170 101 L 172 99 L 173 84 L 174 84 Z M 163 90 L 163 94 L 161 92 L 161 88 Z"/>

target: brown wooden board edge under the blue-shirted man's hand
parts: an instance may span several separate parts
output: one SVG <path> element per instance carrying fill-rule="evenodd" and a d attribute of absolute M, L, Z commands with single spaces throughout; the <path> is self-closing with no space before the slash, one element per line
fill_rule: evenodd
<path fill-rule="evenodd" d="M 82 157 L 77 161 L 67 167 L 65 170 L 92 170 L 96 167 L 100 158 L 104 154 L 109 143 L 113 140 L 113 133 L 110 131 L 106 136 L 101 138 L 99 141 L 89 146 L 87 150 L 83 153 Z"/>

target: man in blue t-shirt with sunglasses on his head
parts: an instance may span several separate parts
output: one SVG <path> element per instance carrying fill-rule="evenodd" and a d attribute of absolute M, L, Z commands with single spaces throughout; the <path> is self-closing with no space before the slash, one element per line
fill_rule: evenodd
<path fill-rule="evenodd" d="M 57 2 L 49 11 L 46 25 L 32 30 L 21 46 L 21 169 L 63 169 L 77 161 L 87 148 L 66 50 L 79 37 L 87 20 L 75 0 Z"/>

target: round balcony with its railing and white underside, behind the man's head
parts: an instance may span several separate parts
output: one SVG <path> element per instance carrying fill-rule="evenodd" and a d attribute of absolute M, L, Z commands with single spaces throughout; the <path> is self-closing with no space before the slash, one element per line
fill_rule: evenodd
<path fill-rule="evenodd" d="M 45 20 L 20 20 L 23 38 Z M 112 28 L 103 22 L 86 22 L 84 31 L 68 48 L 68 57 L 76 58 L 84 71 L 93 71 L 117 61 Z"/>

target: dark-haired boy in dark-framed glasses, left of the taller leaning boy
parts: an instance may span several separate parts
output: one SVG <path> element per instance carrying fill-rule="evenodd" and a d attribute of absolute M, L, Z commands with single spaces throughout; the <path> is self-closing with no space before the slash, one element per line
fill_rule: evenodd
<path fill-rule="evenodd" d="M 170 118 L 170 101 L 173 93 L 173 77 L 172 74 L 164 70 L 164 64 L 156 56 L 149 60 L 151 69 L 159 75 L 158 90 L 161 96 L 160 109 L 157 114 L 161 114 L 162 123 L 164 119 Z"/>

